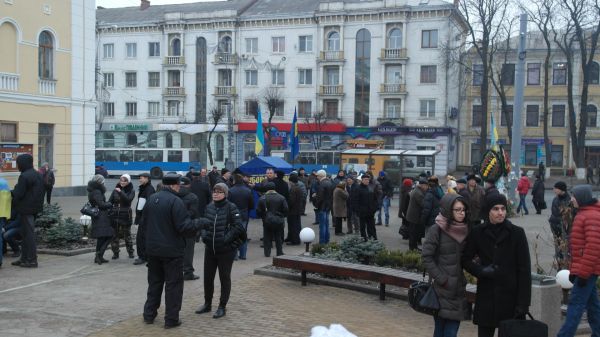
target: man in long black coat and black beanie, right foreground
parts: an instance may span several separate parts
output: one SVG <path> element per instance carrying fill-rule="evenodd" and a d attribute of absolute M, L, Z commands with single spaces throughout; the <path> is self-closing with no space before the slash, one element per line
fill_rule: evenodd
<path fill-rule="evenodd" d="M 473 323 L 478 336 L 493 337 L 501 321 L 525 319 L 531 303 L 531 261 L 525 231 L 506 218 L 506 197 L 490 194 L 485 205 L 486 219 L 472 227 L 461 263 L 477 278 Z"/>

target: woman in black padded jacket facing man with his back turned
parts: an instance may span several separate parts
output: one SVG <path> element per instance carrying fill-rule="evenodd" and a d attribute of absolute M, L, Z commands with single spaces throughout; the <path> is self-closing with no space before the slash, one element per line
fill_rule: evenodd
<path fill-rule="evenodd" d="M 213 318 L 226 314 L 227 302 L 231 293 L 231 269 L 238 249 L 246 241 L 246 231 L 242 227 L 242 217 L 237 206 L 227 200 L 229 186 L 217 183 L 213 186 L 212 199 L 201 221 L 204 249 L 204 304 L 196 310 L 204 314 L 212 310 L 212 298 L 215 289 L 215 276 L 219 271 L 221 296 L 219 307 Z"/>

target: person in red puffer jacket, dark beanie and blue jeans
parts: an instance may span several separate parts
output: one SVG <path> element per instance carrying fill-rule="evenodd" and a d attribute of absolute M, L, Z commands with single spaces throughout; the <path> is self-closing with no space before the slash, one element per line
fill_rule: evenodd
<path fill-rule="evenodd" d="M 557 337 L 574 336 L 583 311 L 587 311 L 592 336 L 600 334 L 600 300 L 596 281 L 600 275 L 600 203 L 592 195 L 592 186 L 577 185 L 572 189 L 571 202 L 577 209 L 569 238 L 571 266 L 569 280 L 573 283 L 567 316 Z"/>

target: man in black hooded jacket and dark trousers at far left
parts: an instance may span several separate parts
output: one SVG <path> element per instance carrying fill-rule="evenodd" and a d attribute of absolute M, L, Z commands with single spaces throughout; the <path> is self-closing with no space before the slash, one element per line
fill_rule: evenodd
<path fill-rule="evenodd" d="M 11 191 L 12 205 L 21 219 L 21 258 L 12 265 L 37 268 L 35 244 L 35 215 L 44 205 L 44 183 L 42 176 L 33 169 L 33 157 L 26 153 L 17 157 L 17 168 L 21 172 L 15 188 Z"/>

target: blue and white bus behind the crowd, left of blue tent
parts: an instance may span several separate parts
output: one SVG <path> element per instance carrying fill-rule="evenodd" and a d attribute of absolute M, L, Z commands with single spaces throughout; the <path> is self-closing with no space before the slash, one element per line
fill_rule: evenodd
<path fill-rule="evenodd" d="M 200 170 L 197 148 L 96 148 L 96 166 L 104 166 L 109 176 L 150 173 L 161 179 L 164 172 L 185 174 L 190 167 Z"/>

